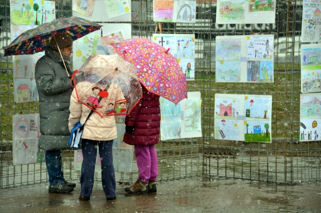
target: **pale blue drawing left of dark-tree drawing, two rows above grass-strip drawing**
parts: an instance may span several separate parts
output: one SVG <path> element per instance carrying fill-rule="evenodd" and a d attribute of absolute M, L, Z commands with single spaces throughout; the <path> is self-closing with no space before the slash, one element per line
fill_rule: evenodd
<path fill-rule="evenodd" d="M 240 81 L 240 61 L 216 61 L 216 81 Z"/>

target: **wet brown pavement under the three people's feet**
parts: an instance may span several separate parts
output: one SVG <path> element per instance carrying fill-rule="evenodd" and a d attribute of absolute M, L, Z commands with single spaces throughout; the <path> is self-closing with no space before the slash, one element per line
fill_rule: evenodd
<path fill-rule="evenodd" d="M 73 181 L 78 183 L 77 181 Z M 157 192 L 128 194 L 117 183 L 117 199 L 105 200 L 95 182 L 90 201 L 49 193 L 49 183 L 0 189 L 0 212 L 321 212 L 321 182 L 276 185 L 240 179 L 192 177 L 157 182 Z"/>

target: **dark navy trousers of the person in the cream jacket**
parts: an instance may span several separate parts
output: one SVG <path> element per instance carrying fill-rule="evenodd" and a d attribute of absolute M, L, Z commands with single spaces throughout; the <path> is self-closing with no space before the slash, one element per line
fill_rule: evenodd
<path fill-rule="evenodd" d="M 116 196 L 115 170 L 112 164 L 112 141 L 82 139 L 83 161 L 81 165 L 81 194 L 90 196 L 94 186 L 94 173 L 97 155 L 97 145 L 101 159 L 101 183 L 106 198 Z"/>

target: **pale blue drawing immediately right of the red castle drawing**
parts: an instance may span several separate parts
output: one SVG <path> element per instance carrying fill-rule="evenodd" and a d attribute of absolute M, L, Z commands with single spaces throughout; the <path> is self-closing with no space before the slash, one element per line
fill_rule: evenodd
<path fill-rule="evenodd" d="M 255 119 L 270 119 L 270 104 L 269 97 L 260 96 L 245 96 L 244 114 L 246 118 Z"/>

